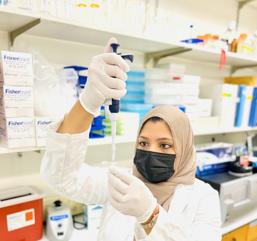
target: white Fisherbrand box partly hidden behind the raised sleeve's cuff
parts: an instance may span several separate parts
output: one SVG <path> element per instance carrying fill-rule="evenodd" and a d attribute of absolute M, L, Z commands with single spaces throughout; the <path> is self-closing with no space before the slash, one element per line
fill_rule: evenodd
<path fill-rule="evenodd" d="M 35 131 L 37 146 L 46 146 L 47 125 L 56 121 L 52 117 L 35 117 Z"/>

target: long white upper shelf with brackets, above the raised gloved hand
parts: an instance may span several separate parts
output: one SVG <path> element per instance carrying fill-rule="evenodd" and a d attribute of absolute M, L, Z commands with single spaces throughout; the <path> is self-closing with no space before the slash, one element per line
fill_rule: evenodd
<path fill-rule="evenodd" d="M 221 51 L 182 42 L 171 43 L 137 34 L 113 32 L 106 27 L 68 20 L 47 14 L 23 9 L 0 6 L 0 30 L 10 33 L 12 45 L 14 38 L 25 32 L 29 35 L 61 39 L 73 42 L 105 46 L 110 37 L 118 39 L 121 46 L 132 51 L 145 52 L 147 59 L 154 56 L 176 55 L 178 57 L 218 64 Z M 19 30 L 18 30 L 19 29 Z M 17 30 L 17 31 L 15 31 Z M 237 53 L 226 53 L 226 64 L 234 67 L 257 65 L 257 58 Z"/>

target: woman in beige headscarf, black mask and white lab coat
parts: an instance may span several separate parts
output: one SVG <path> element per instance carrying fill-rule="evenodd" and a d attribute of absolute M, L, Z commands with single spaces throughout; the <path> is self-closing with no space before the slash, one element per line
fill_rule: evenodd
<path fill-rule="evenodd" d="M 93 117 L 106 99 L 125 95 L 127 71 L 116 54 L 92 59 L 79 101 L 48 127 L 42 179 L 60 195 L 103 205 L 98 240 L 221 240 L 218 192 L 195 179 L 194 136 L 179 109 L 158 106 L 146 114 L 133 170 L 83 163 Z"/>

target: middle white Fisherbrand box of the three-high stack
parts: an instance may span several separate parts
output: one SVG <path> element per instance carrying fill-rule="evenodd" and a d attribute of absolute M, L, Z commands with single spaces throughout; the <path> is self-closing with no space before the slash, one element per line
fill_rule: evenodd
<path fill-rule="evenodd" d="M 32 86 L 0 86 L 0 115 L 4 117 L 33 117 Z"/>

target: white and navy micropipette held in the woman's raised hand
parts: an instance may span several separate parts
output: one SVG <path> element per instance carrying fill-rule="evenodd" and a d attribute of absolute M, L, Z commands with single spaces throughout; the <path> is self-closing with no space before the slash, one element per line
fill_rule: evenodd
<path fill-rule="evenodd" d="M 119 47 L 118 43 L 112 43 L 111 44 L 113 52 L 117 54 L 117 49 Z M 134 55 L 133 54 L 118 54 L 123 59 L 128 59 L 131 62 L 133 62 Z M 119 113 L 119 105 L 120 105 L 120 99 L 107 99 L 104 102 L 104 107 L 106 113 L 110 117 L 111 121 L 111 130 L 112 130 L 112 162 L 115 160 L 115 135 L 116 135 L 116 123 L 118 120 L 118 113 Z"/>

